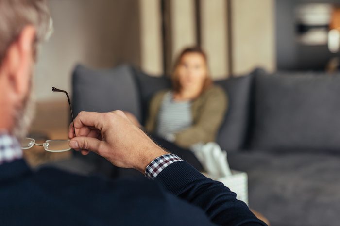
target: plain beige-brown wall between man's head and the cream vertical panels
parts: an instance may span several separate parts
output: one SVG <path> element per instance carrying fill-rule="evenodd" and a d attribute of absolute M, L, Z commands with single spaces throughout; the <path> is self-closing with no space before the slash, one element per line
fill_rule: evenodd
<path fill-rule="evenodd" d="M 54 21 L 42 45 L 34 84 L 38 101 L 64 99 L 51 87 L 71 91 L 77 63 L 111 67 L 140 65 L 139 2 L 136 0 L 49 0 Z M 128 19 L 127 19 L 128 18 Z"/>

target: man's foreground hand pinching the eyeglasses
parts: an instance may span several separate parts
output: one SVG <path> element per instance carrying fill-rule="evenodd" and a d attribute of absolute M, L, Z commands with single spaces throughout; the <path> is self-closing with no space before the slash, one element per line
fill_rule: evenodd
<path fill-rule="evenodd" d="M 93 151 L 112 164 L 134 168 L 144 173 L 155 158 L 167 154 L 141 129 L 136 127 L 122 111 L 109 113 L 81 112 L 69 127 L 69 145 L 82 154 Z"/>

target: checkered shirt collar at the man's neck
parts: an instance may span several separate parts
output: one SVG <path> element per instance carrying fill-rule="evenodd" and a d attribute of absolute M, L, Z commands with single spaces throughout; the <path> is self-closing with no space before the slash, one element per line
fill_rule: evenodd
<path fill-rule="evenodd" d="M 0 134 L 0 165 L 22 158 L 19 142 L 13 136 Z"/>

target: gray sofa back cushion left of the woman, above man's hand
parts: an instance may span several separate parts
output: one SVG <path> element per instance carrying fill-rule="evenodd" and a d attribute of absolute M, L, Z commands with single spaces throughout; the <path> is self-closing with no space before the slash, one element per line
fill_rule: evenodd
<path fill-rule="evenodd" d="M 73 113 L 124 110 L 141 119 L 138 89 L 128 65 L 94 70 L 77 65 L 73 72 Z"/>

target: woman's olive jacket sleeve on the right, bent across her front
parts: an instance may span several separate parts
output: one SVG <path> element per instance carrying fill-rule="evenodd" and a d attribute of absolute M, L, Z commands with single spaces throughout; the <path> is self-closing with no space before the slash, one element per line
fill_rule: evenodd
<path fill-rule="evenodd" d="M 214 141 L 227 109 L 227 96 L 220 87 L 214 87 L 206 94 L 203 106 L 198 110 L 194 124 L 175 133 L 175 143 L 188 148 L 199 142 Z"/>

